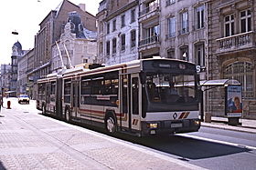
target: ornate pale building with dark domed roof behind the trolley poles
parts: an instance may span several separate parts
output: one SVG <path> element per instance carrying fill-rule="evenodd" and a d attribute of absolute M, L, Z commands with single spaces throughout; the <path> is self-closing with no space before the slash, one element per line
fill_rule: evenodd
<path fill-rule="evenodd" d="M 58 72 L 63 65 L 70 68 L 83 63 L 96 63 L 96 40 L 97 33 L 84 27 L 80 21 L 80 15 L 76 12 L 69 13 L 64 33 L 60 35 L 57 44 L 52 45 L 52 72 Z"/>

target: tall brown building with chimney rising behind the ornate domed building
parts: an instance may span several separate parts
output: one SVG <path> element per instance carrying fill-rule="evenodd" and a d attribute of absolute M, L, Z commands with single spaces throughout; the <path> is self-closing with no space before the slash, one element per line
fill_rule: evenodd
<path fill-rule="evenodd" d="M 75 11 L 80 15 L 82 23 L 88 30 L 96 31 L 95 16 L 85 11 L 85 5 L 74 5 L 68 0 L 63 0 L 60 5 L 48 13 L 39 24 L 40 30 L 35 36 L 35 67 L 33 74 L 43 78 L 51 73 L 52 45 L 59 41 L 64 32 L 70 12 Z"/>

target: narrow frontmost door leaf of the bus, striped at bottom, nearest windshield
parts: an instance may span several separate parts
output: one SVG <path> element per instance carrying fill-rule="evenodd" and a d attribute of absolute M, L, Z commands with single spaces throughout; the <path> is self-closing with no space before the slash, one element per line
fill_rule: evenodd
<path fill-rule="evenodd" d="M 130 124 L 133 130 L 141 130 L 141 85 L 139 74 L 131 75 L 130 82 Z"/>

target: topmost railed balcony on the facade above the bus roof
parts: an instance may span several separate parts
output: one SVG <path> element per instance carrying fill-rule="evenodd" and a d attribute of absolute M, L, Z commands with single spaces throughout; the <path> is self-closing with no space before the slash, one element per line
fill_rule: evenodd
<path fill-rule="evenodd" d="M 153 17 L 159 17 L 159 4 L 148 6 L 139 12 L 139 22 L 146 21 Z"/>

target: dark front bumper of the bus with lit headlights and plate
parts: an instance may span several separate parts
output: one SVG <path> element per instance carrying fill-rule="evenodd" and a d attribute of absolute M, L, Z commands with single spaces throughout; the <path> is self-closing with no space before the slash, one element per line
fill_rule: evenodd
<path fill-rule="evenodd" d="M 142 135 L 197 132 L 200 125 L 199 119 L 142 122 Z"/>

